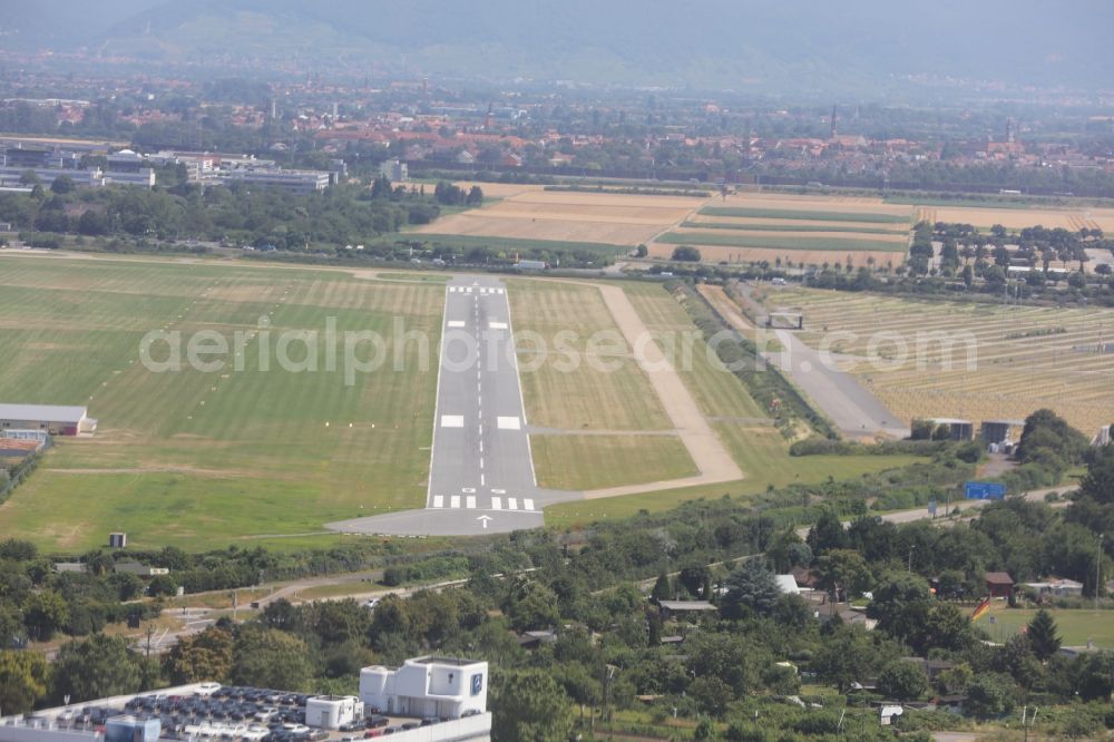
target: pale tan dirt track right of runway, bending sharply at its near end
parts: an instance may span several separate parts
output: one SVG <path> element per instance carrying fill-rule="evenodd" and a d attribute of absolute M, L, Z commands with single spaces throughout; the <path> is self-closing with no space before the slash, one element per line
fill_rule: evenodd
<path fill-rule="evenodd" d="M 734 459 L 723 447 L 723 442 L 716 437 L 715 431 L 704 419 L 696 401 L 688 392 L 681 375 L 665 359 L 665 354 L 657 343 L 639 342 L 641 338 L 649 334 L 646 324 L 642 321 L 634 304 L 619 286 L 596 285 L 604 297 L 604 303 L 626 338 L 632 348 L 638 349 L 635 357 L 639 365 L 649 379 L 651 385 L 662 401 L 673 427 L 685 445 L 688 455 L 700 470 L 695 477 L 674 479 L 670 481 L 647 482 L 643 485 L 628 485 L 622 487 L 608 487 L 606 489 L 589 490 L 584 494 L 585 499 L 600 497 L 617 497 L 619 495 L 634 495 L 637 492 L 649 492 L 659 489 L 674 487 L 691 487 L 696 485 L 712 485 L 722 481 L 737 481 L 743 478 L 743 472 L 735 463 Z"/>

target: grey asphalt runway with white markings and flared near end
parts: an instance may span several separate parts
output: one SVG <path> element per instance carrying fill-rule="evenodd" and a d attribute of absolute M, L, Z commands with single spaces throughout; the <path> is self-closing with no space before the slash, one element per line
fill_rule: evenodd
<path fill-rule="evenodd" d="M 426 508 L 329 528 L 405 536 L 539 528 L 545 505 L 580 497 L 537 486 L 511 329 L 499 279 L 448 283 Z"/>

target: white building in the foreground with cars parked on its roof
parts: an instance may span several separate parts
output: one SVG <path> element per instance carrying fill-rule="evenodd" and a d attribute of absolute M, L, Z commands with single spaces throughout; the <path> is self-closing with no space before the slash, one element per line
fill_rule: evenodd
<path fill-rule="evenodd" d="M 360 697 L 196 683 L 0 717 L 0 742 L 489 740 L 486 662 L 418 657 L 365 667 Z"/>

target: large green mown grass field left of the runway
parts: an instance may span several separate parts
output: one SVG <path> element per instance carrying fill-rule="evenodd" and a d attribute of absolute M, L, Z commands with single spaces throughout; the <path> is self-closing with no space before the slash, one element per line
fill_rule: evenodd
<path fill-rule="evenodd" d="M 100 421 L 94 438 L 60 440 L 0 506 L 0 538 L 78 551 L 126 530 L 139 547 L 195 550 L 260 536 L 302 541 L 329 520 L 420 506 L 442 303 L 437 284 L 340 271 L 0 261 L 0 400 L 87 404 Z M 417 343 L 391 341 L 395 318 L 429 336 L 427 368 Z M 277 368 L 282 332 L 323 335 L 331 322 L 341 338 L 381 333 L 405 372 L 387 363 L 345 383 L 342 359 L 328 370 L 323 339 L 313 353 L 289 346 L 317 371 Z M 229 345 L 237 331 L 253 334 L 240 369 L 229 350 L 221 370 L 157 373 L 139 361 L 152 330 L 180 332 L 183 346 L 203 330 Z M 152 349 L 156 360 L 167 353 Z"/>

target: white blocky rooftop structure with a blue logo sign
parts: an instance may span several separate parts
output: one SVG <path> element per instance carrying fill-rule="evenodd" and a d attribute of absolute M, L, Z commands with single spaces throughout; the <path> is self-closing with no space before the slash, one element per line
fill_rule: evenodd
<path fill-rule="evenodd" d="M 486 662 L 417 657 L 361 670 L 360 699 L 385 714 L 460 719 L 487 713 L 487 681 Z"/>

